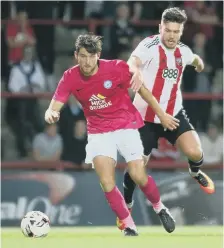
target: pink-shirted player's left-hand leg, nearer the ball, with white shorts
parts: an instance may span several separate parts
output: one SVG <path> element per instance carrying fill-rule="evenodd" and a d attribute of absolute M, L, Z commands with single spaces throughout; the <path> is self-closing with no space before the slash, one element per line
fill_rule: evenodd
<path fill-rule="evenodd" d="M 136 236 L 137 232 L 134 221 L 122 194 L 115 185 L 117 147 L 112 134 L 105 133 L 88 136 L 86 163 L 94 165 L 107 202 L 117 217 L 122 219 L 124 228 L 128 228 L 128 235 Z"/>

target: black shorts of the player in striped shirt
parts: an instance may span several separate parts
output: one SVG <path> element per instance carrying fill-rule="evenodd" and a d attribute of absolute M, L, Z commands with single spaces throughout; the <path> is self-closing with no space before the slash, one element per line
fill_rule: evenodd
<path fill-rule="evenodd" d="M 142 139 L 142 144 L 144 147 L 144 155 L 149 155 L 153 148 L 158 148 L 158 139 L 165 138 L 172 145 L 176 143 L 177 138 L 190 130 L 194 130 L 194 127 L 189 122 L 189 119 L 185 113 L 184 109 L 175 116 L 180 122 L 179 127 L 174 131 L 166 130 L 161 124 L 145 122 L 145 125 L 139 129 L 139 133 Z"/>

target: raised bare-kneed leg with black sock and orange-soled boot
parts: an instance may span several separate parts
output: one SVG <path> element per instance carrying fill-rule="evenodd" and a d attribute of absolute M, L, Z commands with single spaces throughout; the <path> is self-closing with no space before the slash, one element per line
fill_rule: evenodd
<path fill-rule="evenodd" d="M 188 158 L 189 172 L 199 183 L 201 189 L 207 194 L 214 193 L 215 186 L 213 181 L 200 170 L 203 165 L 203 151 L 198 134 L 194 130 L 187 131 L 177 138 L 176 144 Z"/>

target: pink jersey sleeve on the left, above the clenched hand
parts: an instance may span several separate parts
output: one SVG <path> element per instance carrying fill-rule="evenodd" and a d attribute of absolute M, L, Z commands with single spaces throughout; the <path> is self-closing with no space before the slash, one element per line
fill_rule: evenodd
<path fill-rule="evenodd" d="M 53 99 L 59 102 L 66 103 L 71 94 L 69 85 L 69 75 L 68 71 L 66 71 L 58 83 L 58 87 L 54 93 Z"/>

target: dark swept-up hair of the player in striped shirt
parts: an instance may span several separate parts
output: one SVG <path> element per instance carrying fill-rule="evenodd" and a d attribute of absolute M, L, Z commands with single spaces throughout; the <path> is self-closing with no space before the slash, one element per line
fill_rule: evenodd
<path fill-rule="evenodd" d="M 176 22 L 180 24 L 185 24 L 187 21 L 187 15 L 185 10 L 179 8 L 168 8 L 163 11 L 162 22 Z"/>

